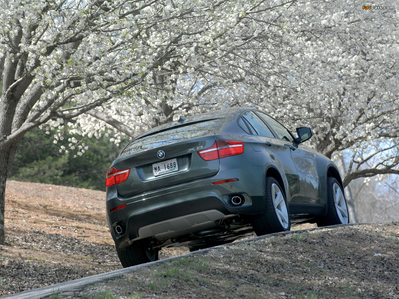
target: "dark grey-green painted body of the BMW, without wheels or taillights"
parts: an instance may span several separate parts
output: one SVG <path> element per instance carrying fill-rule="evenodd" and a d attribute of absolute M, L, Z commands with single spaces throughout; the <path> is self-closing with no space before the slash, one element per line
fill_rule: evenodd
<path fill-rule="evenodd" d="M 206 247 L 250 236 L 251 215 L 265 212 L 265 179 L 270 176 L 283 189 L 292 226 L 327 214 L 327 177 L 335 177 L 343 189 L 336 165 L 293 135 L 290 142 L 273 130 L 268 137 L 243 128 L 248 122 L 241 116 L 249 111 L 265 115 L 252 108 L 208 112 L 154 128 L 124 148 L 111 167 L 130 169 L 129 177 L 107 187 L 107 219 L 117 248 L 140 239 L 158 249 Z M 201 159 L 198 151 L 217 140 L 242 141 L 244 152 Z M 153 164 L 161 161 L 159 150 L 165 153 L 162 159 L 177 159 L 178 171 L 153 175 Z M 213 184 L 232 178 L 238 180 Z M 233 195 L 241 195 L 244 203 L 234 206 Z"/>

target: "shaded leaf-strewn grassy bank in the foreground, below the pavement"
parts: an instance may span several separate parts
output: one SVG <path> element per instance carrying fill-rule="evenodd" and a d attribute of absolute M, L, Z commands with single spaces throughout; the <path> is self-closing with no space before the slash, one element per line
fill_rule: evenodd
<path fill-rule="evenodd" d="M 67 298 L 399 298 L 399 222 L 262 236 L 193 254 Z"/>

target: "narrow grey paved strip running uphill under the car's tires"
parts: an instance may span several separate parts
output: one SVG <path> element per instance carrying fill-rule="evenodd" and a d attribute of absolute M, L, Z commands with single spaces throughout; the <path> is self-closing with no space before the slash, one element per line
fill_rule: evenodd
<path fill-rule="evenodd" d="M 300 234 L 300 233 L 304 233 L 304 232 L 311 232 L 313 230 L 322 230 L 322 229 L 326 229 L 326 228 L 330 229 L 330 228 L 336 228 L 336 227 L 340 227 L 340 226 L 361 226 L 361 225 L 367 225 L 367 223 L 337 224 L 337 225 L 332 225 L 332 226 L 304 228 L 302 230 L 290 230 L 288 232 L 276 232 L 274 234 L 268 234 L 268 235 L 264 235 L 264 236 L 251 238 L 251 239 L 240 240 L 240 241 L 235 242 L 234 244 L 253 242 L 255 240 L 267 239 L 267 238 L 270 238 L 273 236 L 286 236 L 289 234 Z M 80 291 L 89 285 L 94 285 L 95 283 L 104 282 L 104 281 L 111 280 L 111 279 L 117 279 L 117 278 L 123 276 L 124 274 L 133 273 L 134 271 L 136 271 L 138 269 L 152 267 L 152 266 L 156 266 L 156 265 L 162 265 L 162 264 L 168 263 L 172 260 L 175 260 L 177 258 L 184 258 L 184 257 L 189 257 L 189 256 L 203 256 L 203 255 L 207 254 L 207 252 L 214 250 L 214 248 L 223 247 L 223 246 L 226 246 L 229 244 L 232 244 L 232 243 L 222 244 L 219 246 L 201 249 L 201 250 L 197 250 L 194 252 L 188 252 L 188 253 L 182 254 L 180 256 L 172 256 L 170 258 L 165 258 L 163 260 L 158 260 L 158 261 L 150 262 L 147 264 L 141 264 L 141 265 L 137 265 L 137 266 L 114 270 L 111 272 L 100 273 L 100 274 L 96 274 L 93 276 L 82 277 L 82 278 L 74 279 L 71 281 L 64 281 L 64 282 L 57 283 L 54 285 L 49 285 L 47 287 L 41 287 L 38 289 L 32 289 L 32 290 L 23 291 L 20 293 L 1 296 L 1 298 L 2 299 L 40 299 L 43 297 L 51 296 L 53 294 L 59 294 L 62 297 L 63 293 L 65 293 L 65 292 Z"/>

